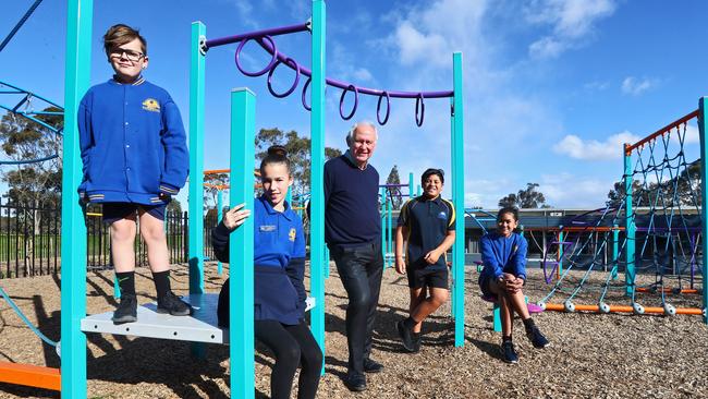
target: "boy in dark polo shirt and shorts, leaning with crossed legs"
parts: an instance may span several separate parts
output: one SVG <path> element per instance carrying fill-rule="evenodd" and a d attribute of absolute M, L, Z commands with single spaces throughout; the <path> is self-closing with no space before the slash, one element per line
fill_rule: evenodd
<path fill-rule="evenodd" d="M 455 241 L 455 209 L 440 196 L 442 170 L 426 170 L 420 183 L 423 195 L 403 205 L 395 229 L 395 270 L 407 275 L 411 289 L 411 315 L 396 323 L 396 328 L 408 352 L 420 349 L 423 321 L 448 301 L 445 253 Z"/>

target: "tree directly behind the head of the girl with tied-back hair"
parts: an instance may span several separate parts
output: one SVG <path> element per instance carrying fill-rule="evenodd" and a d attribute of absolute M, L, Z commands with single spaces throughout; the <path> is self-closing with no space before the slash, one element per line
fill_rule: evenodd
<path fill-rule="evenodd" d="M 261 129 L 256 135 L 256 157 L 258 160 L 266 157 L 268 147 L 271 145 L 282 145 L 288 150 L 291 172 L 295 180 L 292 186 L 292 195 L 308 193 L 310 182 L 309 169 L 312 165 L 309 157 L 310 140 L 308 137 L 301 137 L 295 131 L 285 133 L 278 128 Z M 342 152 L 337 148 L 325 148 L 326 159 L 335 158 L 340 155 L 342 155 Z"/>

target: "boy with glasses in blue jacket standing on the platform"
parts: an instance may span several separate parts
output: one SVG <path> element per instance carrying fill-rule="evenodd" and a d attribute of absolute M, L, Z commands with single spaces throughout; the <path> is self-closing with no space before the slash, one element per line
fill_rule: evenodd
<path fill-rule="evenodd" d="M 147 41 L 119 24 L 103 36 L 115 74 L 88 89 L 78 107 L 78 137 L 84 179 L 83 202 L 103 204 L 110 223 L 111 255 L 121 289 L 113 323 L 137 321 L 135 297 L 136 221 L 147 243 L 157 290 L 157 310 L 185 316 L 191 307 L 170 288 L 170 257 L 164 211 L 184 185 L 188 171 L 186 134 L 180 111 L 161 87 L 145 81 Z"/>

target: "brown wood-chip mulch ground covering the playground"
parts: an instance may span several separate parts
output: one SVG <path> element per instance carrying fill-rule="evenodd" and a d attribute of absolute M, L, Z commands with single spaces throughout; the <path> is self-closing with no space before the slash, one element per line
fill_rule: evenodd
<path fill-rule="evenodd" d="M 206 267 L 206 288 L 217 292 L 225 275 Z M 187 293 L 185 265 L 173 266 L 173 288 Z M 594 273 L 574 300 L 597 304 L 597 288 L 605 281 Z M 581 275 L 572 276 L 577 281 Z M 139 302 L 155 301 L 149 270 L 137 270 Z M 545 312 L 537 325 L 551 340 L 550 348 L 534 349 L 515 321 L 514 342 L 520 363 L 508 365 L 499 352 L 501 335 L 491 328 L 491 304 L 479 298 L 477 271 L 466 270 L 465 344 L 454 347 L 450 305 L 443 305 L 424 325 L 423 349 L 404 353 L 395 322 L 407 315 L 405 277 L 392 269 L 383 275 L 373 358 L 386 368 L 368 375 L 368 389 L 350 392 L 346 373 L 344 314 L 346 294 L 332 265 L 326 282 L 326 375 L 318 398 L 627 398 L 708 397 L 708 327 L 699 316 L 584 314 Z M 0 285 L 49 338 L 60 335 L 60 276 L 0 280 Z M 87 312 L 112 311 L 112 273 L 89 273 Z M 529 271 L 525 289 L 538 301 L 550 291 L 539 270 Z M 552 302 L 563 302 L 559 292 Z M 643 294 L 638 301 L 656 306 L 661 301 Z M 675 298 L 675 299 L 674 299 Z M 700 306 L 699 295 L 672 295 L 676 306 Z M 628 304 L 617 291 L 610 304 Z M 89 398 L 228 398 L 229 348 L 208 344 L 205 360 L 190 354 L 190 343 L 139 337 L 88 334 Z M 54 348 L 41 342 L 0 299 L 0 361 L 59 366 Z M 263 346 L 256 352 L 256 397 L 269 397 L 272 355 Z M 294 395 L 294 394 L 293 394 Z M 52 398 L 59 395 L 0 384 L 0 398 Z"/>

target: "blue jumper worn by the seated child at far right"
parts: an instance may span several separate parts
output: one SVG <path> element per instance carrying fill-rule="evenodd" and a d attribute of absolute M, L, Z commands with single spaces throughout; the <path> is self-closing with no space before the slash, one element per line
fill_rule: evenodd
<path fill-rule="evenodd" d="M 479 274 L 479 285 L 485 287 L 486 281 L 498 279 L 502 274 L 509 273 L 526 280 L 526 239 L 517 233 L 509 238 L 496 231 L 485 234 L 479 240 L 481 247 L 481 262 L 485 267 Z"/>

